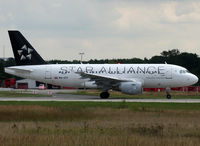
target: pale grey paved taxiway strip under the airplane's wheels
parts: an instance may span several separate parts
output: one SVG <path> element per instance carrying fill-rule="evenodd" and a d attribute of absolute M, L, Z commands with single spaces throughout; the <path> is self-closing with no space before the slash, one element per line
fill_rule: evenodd
<path fill-rule="evenodd" d="M 200 103 L 200 99 L 100 99 L 99 96 L 73 94 L 55 94 L 52 97 L 0 97 L 0 101 Z"/>

